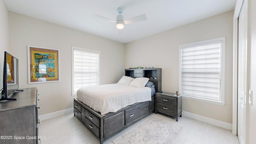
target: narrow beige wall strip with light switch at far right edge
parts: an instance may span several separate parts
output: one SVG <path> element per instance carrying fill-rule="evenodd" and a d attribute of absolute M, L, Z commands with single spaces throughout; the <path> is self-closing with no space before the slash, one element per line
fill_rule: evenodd
<path fill-rule="evenodd" d="M 246 144 L 256 143 L 256 1 L 248 0 L 248 87 L 252 90 L 252 106 L 246 96 Z"/>

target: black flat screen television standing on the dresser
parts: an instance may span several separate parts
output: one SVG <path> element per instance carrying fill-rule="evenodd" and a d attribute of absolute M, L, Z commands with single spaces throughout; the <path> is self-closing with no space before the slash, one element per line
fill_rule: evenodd
<path fill-rule="evenodd" d="M 4 76 L 3 76 L 3 90 L 2 100 L 17 100 L 16 98 L 8 98 L 19 88 L 19 77 L 18 77 L 18 59 L 4 52 Z M 22 90 L 21 90 L 22 91 Z"/>

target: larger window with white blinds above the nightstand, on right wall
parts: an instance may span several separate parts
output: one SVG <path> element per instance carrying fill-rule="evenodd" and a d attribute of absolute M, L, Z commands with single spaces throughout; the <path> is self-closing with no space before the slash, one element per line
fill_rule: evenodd
<path fill-rule="evenodd" d="M 182 96 L 224 105 L 225 38 L 180 45 L 179 50 Z"/>

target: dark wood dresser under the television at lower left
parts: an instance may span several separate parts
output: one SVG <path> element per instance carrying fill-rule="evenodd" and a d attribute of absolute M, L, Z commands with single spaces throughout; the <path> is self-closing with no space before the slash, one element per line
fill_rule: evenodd
<path fill-rule="evenodd" d="M 38 144 L 37 89 L 22 90 L 0 102 L 0 144 Z"/>

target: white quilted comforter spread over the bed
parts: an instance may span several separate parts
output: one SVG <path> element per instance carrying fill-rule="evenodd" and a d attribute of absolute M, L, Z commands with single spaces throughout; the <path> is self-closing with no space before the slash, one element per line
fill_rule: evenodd
<path fill-rule="evenodd" d="M 88 86 L 77 91 L 77 99 L 103 115 L 116 112 L 136 102 L 150 101 L 151 89 L 124 84 Z"/>

